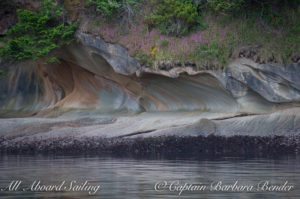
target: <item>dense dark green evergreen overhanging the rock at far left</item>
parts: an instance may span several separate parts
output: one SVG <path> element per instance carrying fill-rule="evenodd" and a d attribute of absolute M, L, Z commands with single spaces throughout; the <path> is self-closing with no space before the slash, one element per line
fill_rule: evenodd
<path fill-rule="evenodd" d="M 0 47 L 1 59 L 36 60 L 73 40 L 77 25 L 65 24 L 63 9 L 52 0 L 45 0 L 39 13 L 18 10 L 17 14 L 18 23 Z"/>

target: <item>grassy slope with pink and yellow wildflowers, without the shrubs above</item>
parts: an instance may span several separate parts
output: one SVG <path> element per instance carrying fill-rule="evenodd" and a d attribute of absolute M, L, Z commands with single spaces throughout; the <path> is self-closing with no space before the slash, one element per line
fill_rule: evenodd
<path fill-rule="evenodd" d="M 202 26 L 182 35 L 166 34 L 155 22 L 149 24 L 155 9 L 148 2 L 137 9 L 130 25 L 100 18 L 90 23 L 87 31 L 122 44 L 148 67 L 192 63 L 198 68 L 213 69 L 224 68 L 237 57 L 286 65 L 299 59 L 300 7 L 263 14 L 256 8 L 236 14 L 202 10 Z"/>

